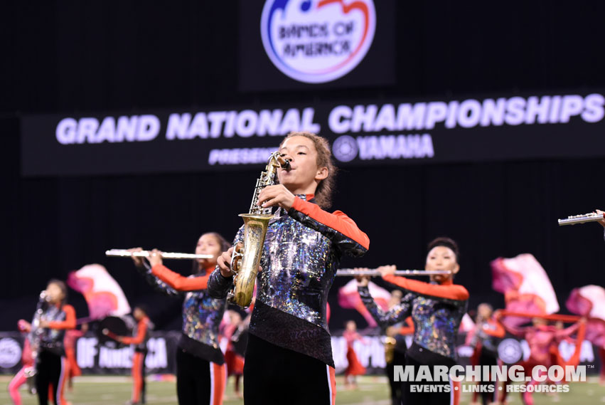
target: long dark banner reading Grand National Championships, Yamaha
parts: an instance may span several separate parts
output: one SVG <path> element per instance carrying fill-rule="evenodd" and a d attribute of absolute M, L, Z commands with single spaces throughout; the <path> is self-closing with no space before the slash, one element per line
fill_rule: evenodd
<path fill-rule="evenodd" d="M 25 176 L 241 169 L 292 131 L 326 137 L 339 166 L 599 157 L 604 92 L 498 98 L 27 115 Z"/>

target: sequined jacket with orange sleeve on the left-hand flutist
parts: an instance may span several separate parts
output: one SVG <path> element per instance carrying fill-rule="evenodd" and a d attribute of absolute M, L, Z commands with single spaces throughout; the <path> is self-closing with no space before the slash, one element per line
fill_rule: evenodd
<path fill-rule="evenodd" d="M 201 275 L 183 277 L 164 265 L 142 268 L 151 285 L 167 295 L 185 295 L 183 327 L 178 347 L 200 359 L 223 364 L 218 345 L 218 327 L 225 312 L 225 298 L 212 298 L 207 285 L 210 270 Z"/>

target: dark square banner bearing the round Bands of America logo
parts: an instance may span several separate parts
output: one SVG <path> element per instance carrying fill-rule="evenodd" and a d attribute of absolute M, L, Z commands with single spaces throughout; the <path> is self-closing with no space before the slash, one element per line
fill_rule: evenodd
<path fill-rule="evenodd" d="M 240 90 L 395 83 L 392 0 L 240 1 Z"/>

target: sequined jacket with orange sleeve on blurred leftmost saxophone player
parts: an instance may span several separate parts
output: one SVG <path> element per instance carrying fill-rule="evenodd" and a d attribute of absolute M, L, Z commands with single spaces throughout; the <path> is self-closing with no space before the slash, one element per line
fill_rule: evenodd
<path fill-rule="evenodd" d="M 75 310 L 73 307 L 71 305 L 63 305 L 63 307 L 48 305 L 44 308 L 40 319 L 50 322 L 48 327 L 42 330 L 40 350 L 65 356 L 65 347 L 63 346 L 65 330 L 75 328 Z"/>

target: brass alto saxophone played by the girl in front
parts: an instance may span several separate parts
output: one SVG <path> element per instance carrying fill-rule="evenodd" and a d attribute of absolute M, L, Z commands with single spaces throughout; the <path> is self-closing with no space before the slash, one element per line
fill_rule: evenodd
<path fill-rule="evenodd" d="M 238 244 L 233 248 L 231 270 L 235 273 L 235 278 L 228 300 L 242 308 L 249 307 L 252 302 L 264 236 L 267 235 L 269 219 L 273 216 L 271 207 L 262 208 L 257 205 L 258 195 L 264 187 L 275 184 L 275 175 L 280 167 L 288 170 L 290 162 L 282 158 L 279 152 L 273 152 L 269 157 L 267 167 L 257 179 L 255 191 L 252 194 L 250 211 L 247 214 L 240 214 L 244 220 L 244 239 L 243 245 Z"/>

